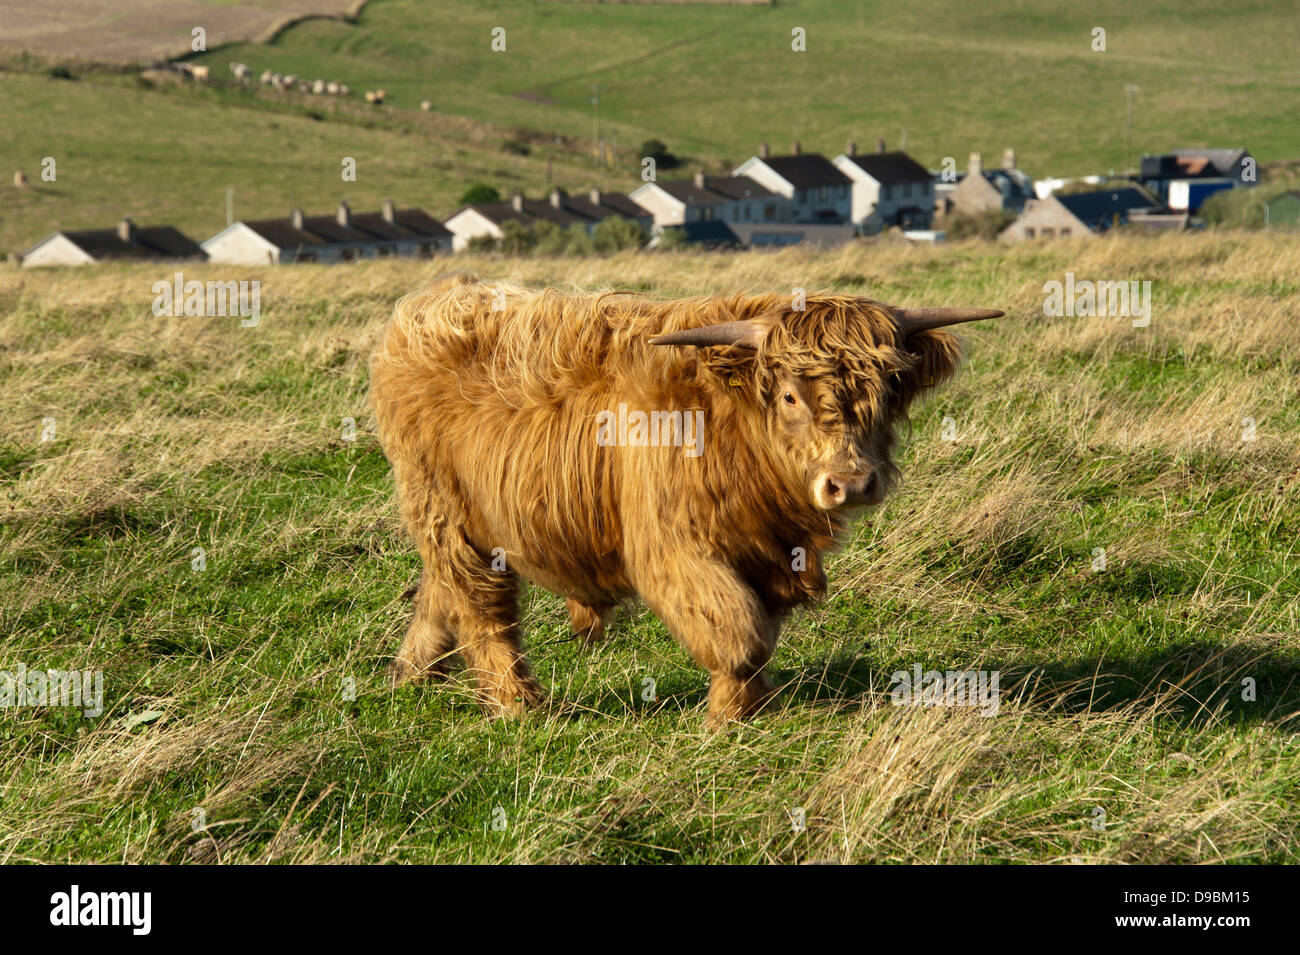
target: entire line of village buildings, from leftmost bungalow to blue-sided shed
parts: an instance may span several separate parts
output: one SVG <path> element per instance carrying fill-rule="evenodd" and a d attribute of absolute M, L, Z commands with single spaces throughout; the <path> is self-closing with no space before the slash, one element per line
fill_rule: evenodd
<path fill-rule="evenodd" d="M 1017 168 L 1013 149 L 1004 152 L 997 168 L 985 169 L 976 152 L 963 175 L 939 177 L 906 152 L 887 151 L 883 140 L 870 153 L 859 153 L 849 142 L 835 159 L 806 153 L 798 142 L 788 155 L 772 156 L 763 143 L 757 156 L 729 175 L 696 173 L 690 179 L 646 182 L 628 195 L 599 190 L 569 195 L 559 188 L 545 199 L 516 194 L 504 201 L 462 207 L 441 222 L 420 209 L 398 209 L 390 200 L 377 212 L 358 214 L 339 203 L 333 216 L 304 216 L 295 209 L 285 218 L 234 222 L 202 244 L 170 226 L 139 229 L 122 220 L 116 229 L 55 233 L 23 253 L 22 264 L 195 257 L 278 265 L 429 257 L 464 251 L 476 240 L 502 239 L 508 222 L 593 231 L 614 216 L 638 223 L 651 246 L 664 229 L 680 229 L 688 242 L 755 247 L 835 244 L 893 226 L 924 236 L 932 226 L 941 229 L 949 216 L 996 210 L 1019 217 L 1005 230 L 1008 239 L 1096 234 L 1117 222 L 1182 227 L 1196 208 L 1184 201 L 1179 209 L 1178 196 L 1202 197 L 1216 188 L 1253 185 L 1253 175 L 1247 174 L 1253 173 L 1253 162 L 1244 149 L 1178 149 L 1143 159 L 1140 178 L 1149 188 L 1098 188 L 1058 200 L 1052 188 L 1036 192 L 1036 183 Z M 1052 182 L 1063 181 L 1041 185 Z M 1167 214 L 1170 207 L 1180 216 Z"/>

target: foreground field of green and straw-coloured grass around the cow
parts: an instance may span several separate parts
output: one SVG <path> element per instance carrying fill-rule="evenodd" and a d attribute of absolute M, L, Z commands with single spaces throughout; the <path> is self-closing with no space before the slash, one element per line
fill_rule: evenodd
<path fill-rule="evenodd" d="M 0 861 L 1300 861 L 1300 239 L 455 266 L 1009 317 L 966 326 L 774 711 L 706 734 L 656 618 L 588 651 L 541 591 L 547 711 L 385 683 L 417 557 L 365 363 L 448 262 L 221 270 L 263 282 L 256 327 L 153 317 L 164 266 L 0 270 L 0 669 L 105 685 L 98 719 L 0 713 Z M 1150 326 L 1045 318 L 1066 272 L 1152 281 Z M 892 706 L 915 664 L 998 670 L 1000 712 Z"/>

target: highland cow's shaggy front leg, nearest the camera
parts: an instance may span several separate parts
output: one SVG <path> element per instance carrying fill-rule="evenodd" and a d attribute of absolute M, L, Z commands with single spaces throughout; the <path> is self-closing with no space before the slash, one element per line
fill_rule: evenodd
<path fill-rule="evenodd" d="M 725 564 L 663 561 L 638 574 L 637 589 L 696 663 L 708 670 L 708 717 L 718 729 L 757 712 L 775 691 L 763 672 L 776 647 L 780 621 Z"/>

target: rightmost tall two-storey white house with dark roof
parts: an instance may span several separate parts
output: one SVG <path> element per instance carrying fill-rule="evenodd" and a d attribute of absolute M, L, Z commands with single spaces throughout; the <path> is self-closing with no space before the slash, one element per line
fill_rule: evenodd
<path fill-rule="evenodd" d="M 935 210 L 930 170 L 905 152 L 885 152 L 884 142 L 874 153 L 859 155 L 849 143 L 835 166 L 853 181 L 850 221 L 863 233 L 888 226 L 927 229 Z"/>

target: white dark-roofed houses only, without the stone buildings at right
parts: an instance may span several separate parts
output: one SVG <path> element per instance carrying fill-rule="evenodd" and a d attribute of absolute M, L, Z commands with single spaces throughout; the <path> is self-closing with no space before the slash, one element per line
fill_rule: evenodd
<path fill-rule="evenodd" d="M 170 226 L 57 231 L 22 255 L 25 266 L 83 265 L 104 259 L 207 259 L 230 265 L 339 262 L 382 256 L 429 257 L 459 252 L 474 239 L 500 239 L 504 225 L 540 221 L 593 230 L 611 216 L 637 222 L 650 235 L 681 226 L 688 240 L 742 246 L 845 242 L 890 225 L 926 227 L 933 205 L 932 175 L 902 152 L 858 155 L 853 143 L 835 160 L 805 153 L 757 156 L 731 175 L 647 182 L 629 195 L 592 190 L 546 199 L 514 195 L 465 205 L 445 221 L 390 200 L 373 213 L 339 203 L 333 216 L 242 220 L 203 243 Z"/>

